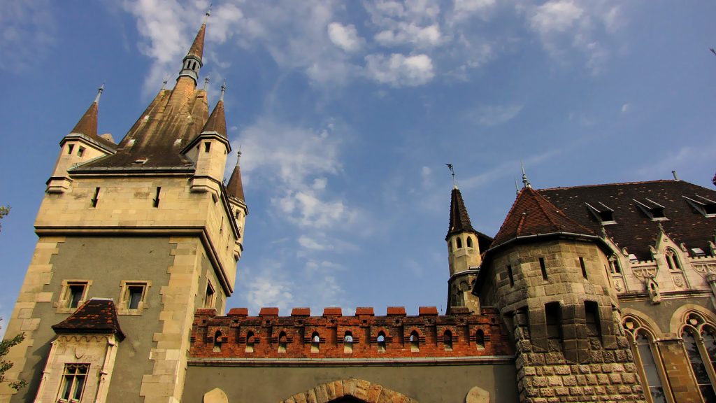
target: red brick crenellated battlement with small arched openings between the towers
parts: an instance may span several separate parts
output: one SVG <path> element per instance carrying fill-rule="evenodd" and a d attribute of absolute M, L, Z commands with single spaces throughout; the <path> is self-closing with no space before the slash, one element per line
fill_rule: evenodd
<path fill-rule="evenodd" d="M 356 308 L 344 316 L 341 308 L 325 308 L 311 316 L 310 308 L 294 308 L 279 316 L 279 308 L 233 308 L 226 316 L 199 309 L 194 315 L 190 356 L 195 359 L 400 359 L 513 355 L 508 333 L 498 313 L 483 308 L 480 315 L 453 308 L 441 316 L 434 306 L 408 316 L 402 306 L 375 316 L 372 307 Z"/>

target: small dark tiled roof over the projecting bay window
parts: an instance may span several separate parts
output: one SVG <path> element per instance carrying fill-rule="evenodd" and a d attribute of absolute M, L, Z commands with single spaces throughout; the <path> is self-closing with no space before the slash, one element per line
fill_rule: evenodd
<path fill-rule="evenodd" d="M 125 334 L 120 328 L 115 303 L 110 299 L 92 298 L 83 303 L 64 321 L 53 325 L 55 333 L 102 333 L 116 334 L 122 340 Z"/>

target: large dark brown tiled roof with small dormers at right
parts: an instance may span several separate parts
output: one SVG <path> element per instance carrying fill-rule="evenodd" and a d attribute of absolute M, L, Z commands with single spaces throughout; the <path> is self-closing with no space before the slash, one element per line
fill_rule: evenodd
<path fill-rule="evenodd" d="M 602 231 L 601 222 L 589 211 L 586 204 L 597 207 L 601 203 L 614 210 L 616 224 L 606 224 L 604 230 L 620 248 L 626 247 L 627 252 L 636 255 L 639 260 L 652 259 L 649 245 L 655 245 L 660 231 L 659 224 L 674 242 L 683 242 L 690 252 L 697 247 L 708 253 L 708 241 L 714 241 L 716 217 L 705 217 L 683 196 L 697 199 L 699 195 L 716 201 L 716 191 L 686 181 L 574 186 L 541 189 L 538 192 L 570 219 L 598 234 Z M 634 199 L 645 203 L 648 203 L 646 199 L 650 199 L 661 204 L 667 219 L 652 221 L 651 217 L 637 207 Z"/>

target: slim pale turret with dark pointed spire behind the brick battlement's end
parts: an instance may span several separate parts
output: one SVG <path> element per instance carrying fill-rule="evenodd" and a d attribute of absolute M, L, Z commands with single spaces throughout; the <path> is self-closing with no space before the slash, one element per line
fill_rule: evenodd
<path fill-rule="evenodd" d="M 466 307 L 471 313 L 480 313 L 480 301 L 471 292 L 480 267 L 478 232 L 470 223 L 468 209 L 458 186 L 450 195 L 450 227 L 445 235 L 448 242 L 448 315 L 452 308 Z"/>

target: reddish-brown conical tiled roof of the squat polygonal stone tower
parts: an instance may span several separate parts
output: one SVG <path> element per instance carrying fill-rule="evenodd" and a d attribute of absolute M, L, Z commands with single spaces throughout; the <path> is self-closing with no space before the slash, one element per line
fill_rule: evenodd
<path fill-rule="evenodd" d="M 507 214 L 491 247 L 521 237 L 538 234 L 580 234 L 596 237 L 596 232 L 567 217 L 554 204 L 531 187 L 523 188 Z"/>

